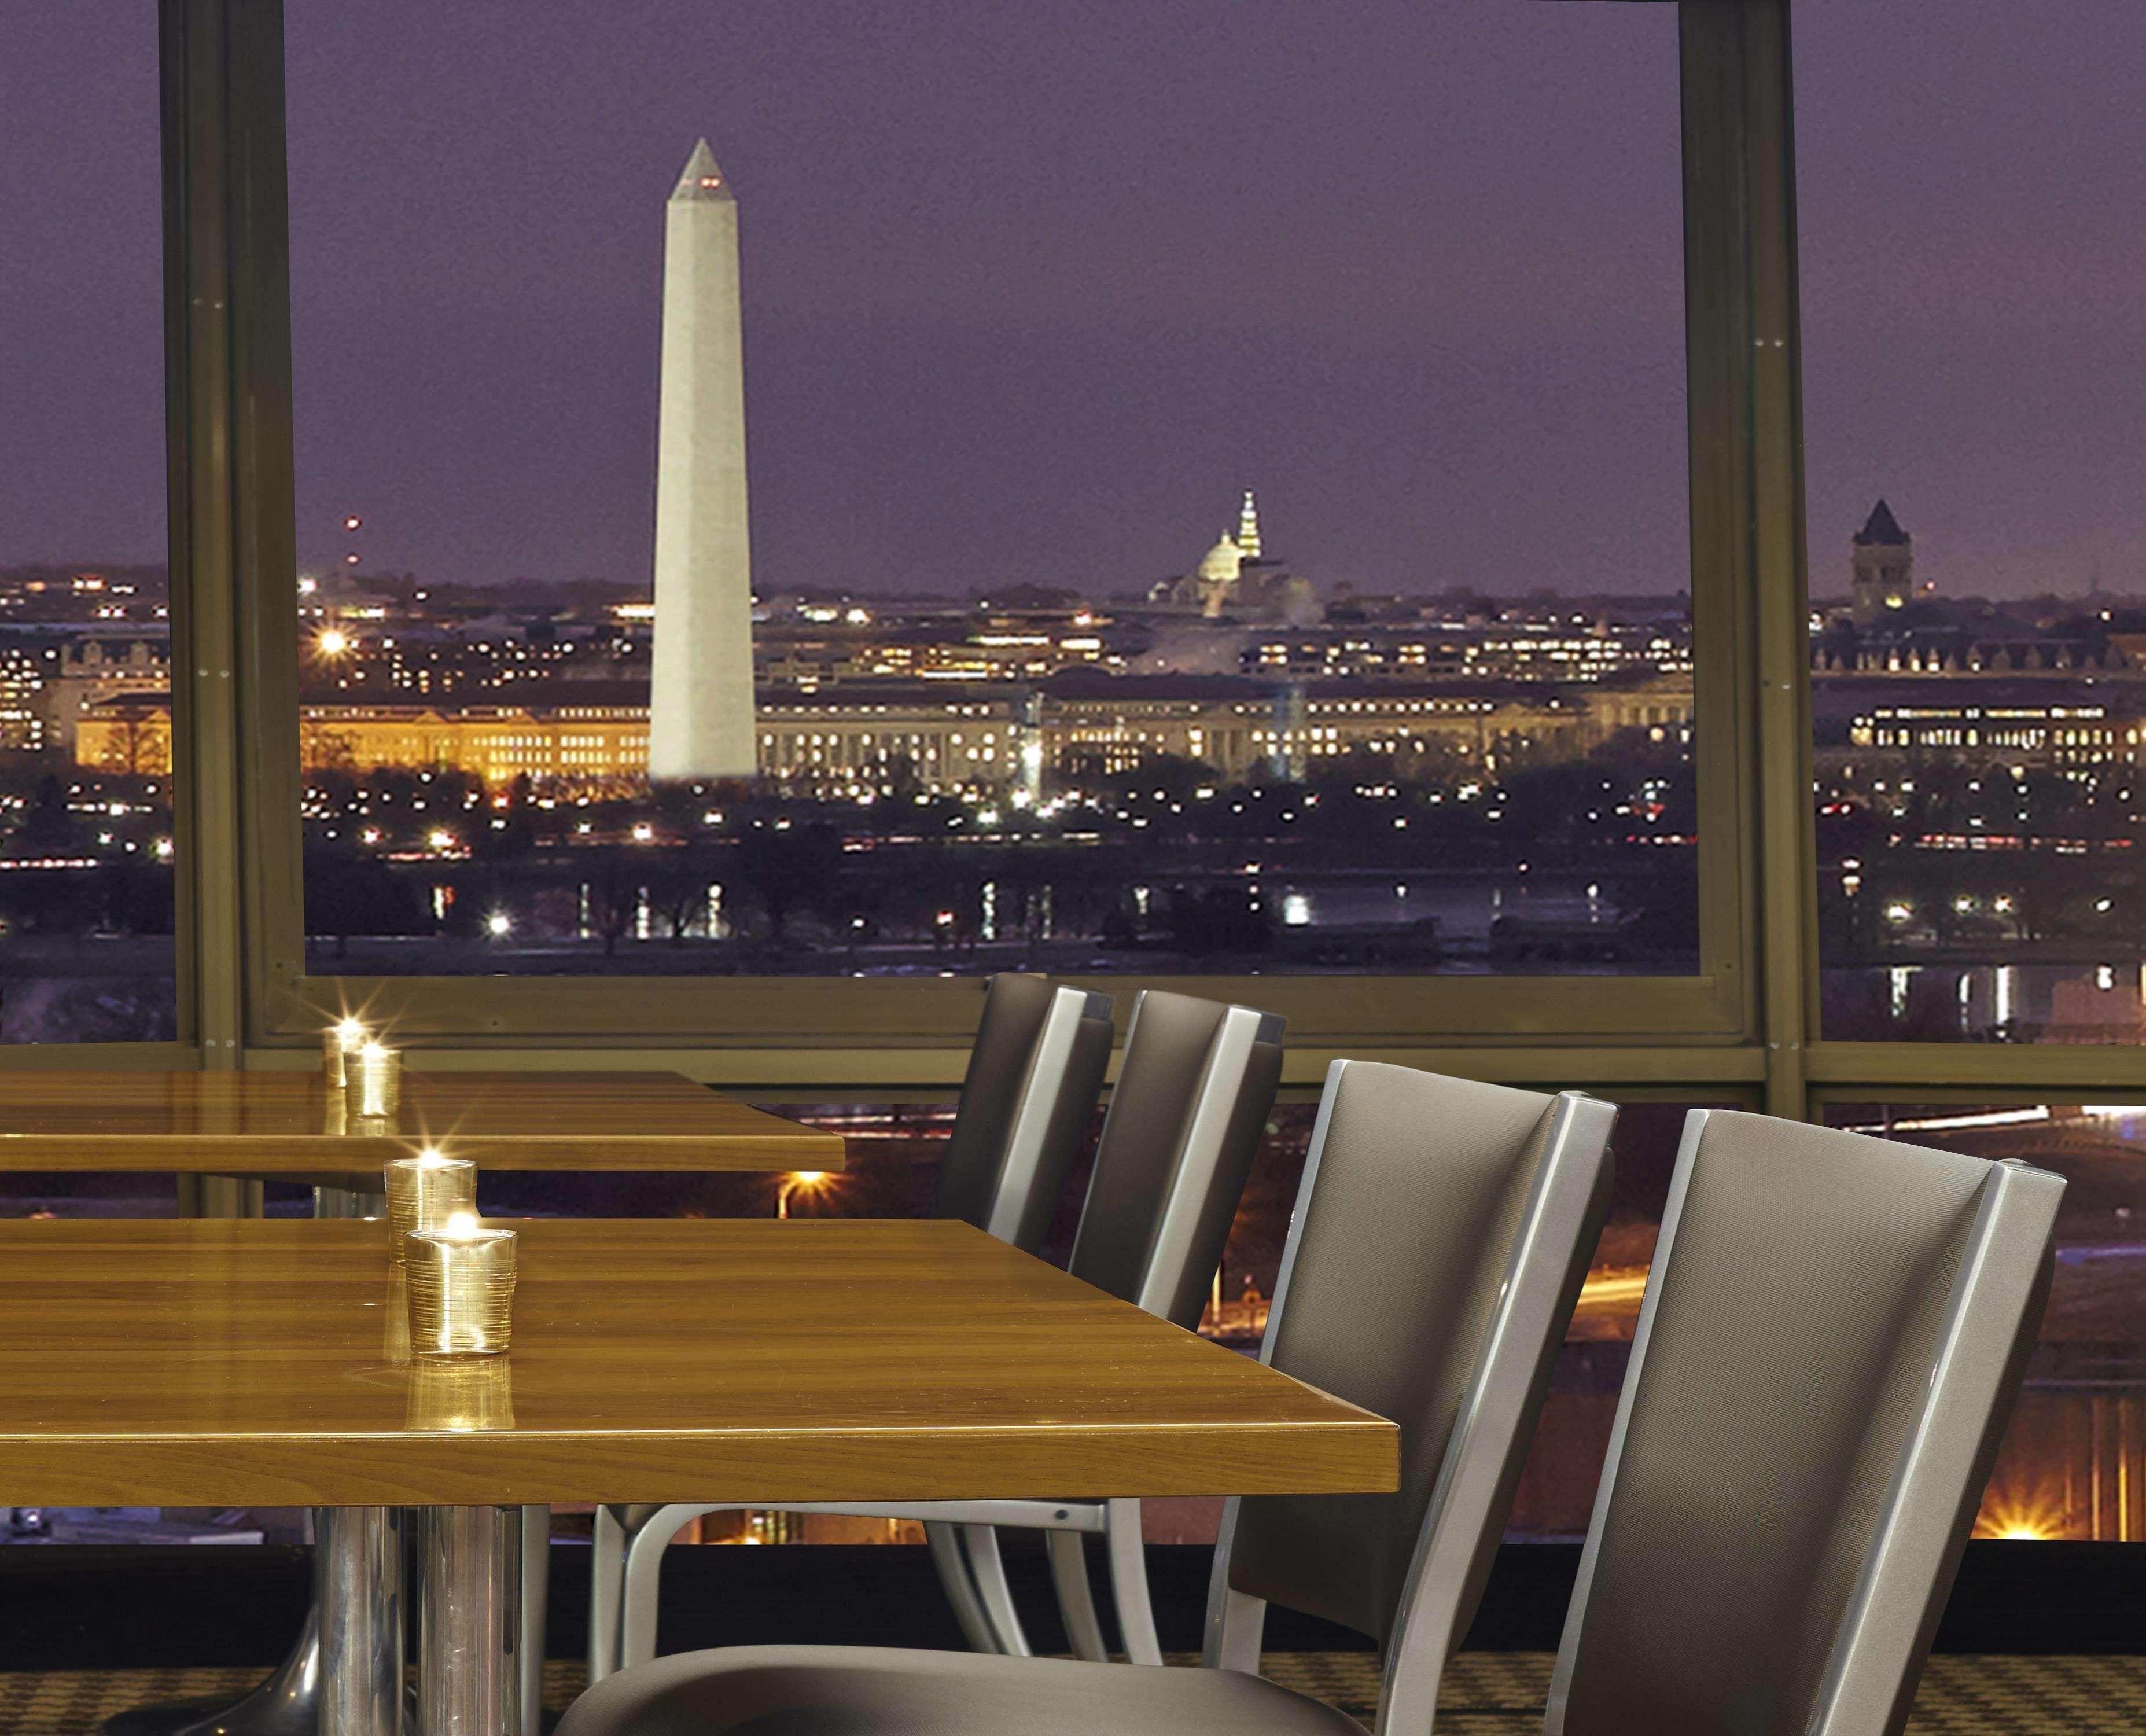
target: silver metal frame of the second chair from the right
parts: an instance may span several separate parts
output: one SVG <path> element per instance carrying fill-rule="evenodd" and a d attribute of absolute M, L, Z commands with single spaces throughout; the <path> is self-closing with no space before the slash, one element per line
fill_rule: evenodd
<path fill-rule="evenodd" d="M 1320 1114 L 1311 1131 L 1305 1180 L 1296 1195 L 1296 1215 L 1290 1221 L 1281 1270 L 1275 1279 L 1266 1343 L 1260 1345 L 1262 1363 L 1273 1358 L 1275 1328 L 1290 1303 L 1305 1206 L 1326 1154 L 1326 1133 L 1341 1077 L 1352 1064 L 1337 1060 L 1326 1069 L 1326 1090 L 1320 1097 Z M 1543 1159 L 1528 1187 L 1498 1305 L 1476 1350 L 1474 1378 L 1453 1421 L 1453 1436 L 1446 1442 L 1438 1481 L 1431 1485 L 1423 1528 L 1416 1532 L 1401 1605 L 1393 1622 L 1393 1639 L 1380 1672 L 1378 1723 L 1373 1725 L 1378 1736 L 1414 1736 L 1431 1727 L 1431 1715 L 1438 1708 L 1438 1678 L 1472 1616 L 1472 1607 L 1468 1607 L 1472 1605 L 1470 1564 L 1481 1545 L 1483 1528 L 1489 1524 L 1487 1513 L 1498 1500 L 1511 1455 L 1524 1451 L 1522 1433 L 1534 1399 L 1543 1345 L 1569 1320 L 1562 1292 L 1573 1247 L 1590 1232 L 1597 1189 L 1603 1165 L 1610 1161 L 1616 1105 L 1567 1090 L 1552 1099 L 1547 1114 L 1549 1133 L 1543 1142 Z M 1266 1603 L 1230 1586 L 1230 1549 L 1236 1539 L 1238 1509 L 1236 1496 L 1223 1504 L 1200 1661 L 1210 1669 L 1238 1669 L 1255 1676 Z"/>

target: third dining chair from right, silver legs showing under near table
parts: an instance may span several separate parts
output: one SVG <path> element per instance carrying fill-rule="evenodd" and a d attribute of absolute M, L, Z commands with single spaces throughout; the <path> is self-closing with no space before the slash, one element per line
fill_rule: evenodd
<path fill-rule="evenodd" d="M 1221 1262 L 1281 1079 L 1283 1021 L 1251 1006 L 1144 989 L 1103 1116 L 1067 1270 L 1191 1330 Z M 663 1547 L 687 1519 L 725 1504 L 635 1513 L 622 1534 L 616 1648 L 590 1648 L 590 1680 L 655 1657 Z M 768 1511 L 755 1504 L 755 1511 Z M 1052 1586 L 1082 1657 L 1107 1657 L 1082 1534 L 1101 1534 L 1118 1627 L 1135 1663 L 1159 1663 L 1137 1500 L 951 1500 L 785 1504 L 781 1513 L 921 1519 L 961 1633 L 979 1652 L 1028 1657 L 998 1528 L 1045 1532 Z M 603 1524 L 603 1515 L 599 1515 Z M 594 1605 L 603 1620 L 607 1603 Z M 601 1667 L 599 1667 L 601 1663 Z"/>

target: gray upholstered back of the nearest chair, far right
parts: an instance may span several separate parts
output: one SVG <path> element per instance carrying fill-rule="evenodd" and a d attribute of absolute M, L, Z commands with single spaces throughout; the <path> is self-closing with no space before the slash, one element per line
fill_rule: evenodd
<path fill-rule="evenodd" d="M 1691 1114 L 1549 1736 L 1901 1730 L 2062 1191 L 2017 1163 Z"/>

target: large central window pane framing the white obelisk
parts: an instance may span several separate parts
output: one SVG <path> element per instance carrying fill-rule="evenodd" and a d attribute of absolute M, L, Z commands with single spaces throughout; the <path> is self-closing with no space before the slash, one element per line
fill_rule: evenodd
<path fill-rule="evenodd" d="M 1092 26 L 292 13 L 309 970 L 1695 968 L 1674 9 Z"/>

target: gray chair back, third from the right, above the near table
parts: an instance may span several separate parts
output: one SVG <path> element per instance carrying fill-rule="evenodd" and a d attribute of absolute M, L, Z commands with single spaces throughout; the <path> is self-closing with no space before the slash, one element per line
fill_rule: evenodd
<path fill-rule="evenodd" d="M 1144 989 L 1067 1270 L 1197 1326 L 1279 1082 L 1273 1013 Z"/>

